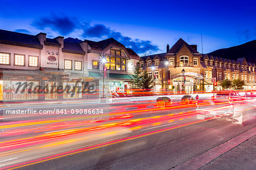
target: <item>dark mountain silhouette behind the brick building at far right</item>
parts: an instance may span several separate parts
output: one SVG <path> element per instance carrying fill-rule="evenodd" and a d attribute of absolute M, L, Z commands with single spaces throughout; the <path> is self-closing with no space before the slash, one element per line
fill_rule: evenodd
<path fill-rule="evenodd" d="M 232 60 L 245 57 L 247 62 L 256 64 L 256 40 L 230 48 L 218 49 L 208 53 L 208 55 Z"/>

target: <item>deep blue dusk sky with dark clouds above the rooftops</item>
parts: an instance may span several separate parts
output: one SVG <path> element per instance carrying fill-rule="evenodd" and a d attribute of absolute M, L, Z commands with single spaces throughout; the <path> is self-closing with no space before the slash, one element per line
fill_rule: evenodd
<path fill-rule="evenodd" d="M 139 55 L 166 52 L 179 39 L 204 53 L 256 39 L 256 1 L 1 0 L 0 29 L 48 38 L 113 37 Z"/>

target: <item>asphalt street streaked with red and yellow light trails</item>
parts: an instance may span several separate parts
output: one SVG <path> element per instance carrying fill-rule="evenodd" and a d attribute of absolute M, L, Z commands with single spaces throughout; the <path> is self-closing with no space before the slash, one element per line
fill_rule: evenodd
<path fill-rule="evenodd" d="M 166 107 L 149 98 L 148 103 L 99 104 L 109 114 L 97 116 L 32 115 L 2 122 L 1 169 L 170 169 L 255 127 L 256 105 L 249 100 L 230 110 L 207 96 L 197 105 L 180 98 Z M 69 103 L 67 109 L 72 104 L 91 108 Z"/>

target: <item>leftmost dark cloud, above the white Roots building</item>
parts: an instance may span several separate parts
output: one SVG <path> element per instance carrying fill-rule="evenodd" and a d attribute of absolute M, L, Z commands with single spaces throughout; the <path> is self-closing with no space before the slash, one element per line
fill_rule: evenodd
<path fill-rule="evenodd" d="M 64 36 L 75 30 L 77 27 L 75 23 L 75 18 L 52 15 L 49 18 L 35 20 L 35 22 L 32 23 L 32 26 L 38 28 L 39 30 L 44 30 L 44 28 L 52 28 L 53 31 L 56 30 Z"/>

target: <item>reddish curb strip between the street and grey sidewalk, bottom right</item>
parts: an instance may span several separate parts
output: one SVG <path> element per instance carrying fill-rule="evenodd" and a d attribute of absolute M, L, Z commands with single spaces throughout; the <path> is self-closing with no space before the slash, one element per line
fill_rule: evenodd
<path fill-rule="evenodd" d="M 229 152 L 233 148 L 239 146 L 246 140 L 252 138 L 254 135 L 256 135 L 256 127 L 251 128 L 250 130 L 247 130 L 246 132 L 243 132 L 242 134 L 228 140 L 225 143 L 222 143 L 207 152 L 204 152 L 201 155 L 198 155 L 196 157 L 193 157 L 192 159 L 185 161 L 182 164 L 177 165 L 174 168 L 174 170 L 181 170 L 181 169 L 200 169 L 204 167 L 205 165 L 209 164 L 211 161 L 217 159 L 218 157 L 224 155 L 225 153 Z"/>

